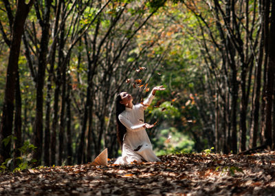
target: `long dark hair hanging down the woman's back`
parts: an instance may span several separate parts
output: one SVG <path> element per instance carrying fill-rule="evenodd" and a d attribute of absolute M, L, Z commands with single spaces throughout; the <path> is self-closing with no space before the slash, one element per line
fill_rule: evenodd
<path fill-rule="evenodd" d="M 118 119 L 118 116 L 120 115 L 120 113 L 122 113 L 122 111 L 125 110 L 125 105 L 120 103 L 120 101 L 122 101 L 122 98 L 120 94 L 118 94 L 115 100 L 116 135 L 118 136 L 118 142 L 120 143 L 120 147 L 122 149 L 123 138 L 126 133 L 126 127 L 124 127 L 124 125 Z"/>

